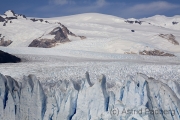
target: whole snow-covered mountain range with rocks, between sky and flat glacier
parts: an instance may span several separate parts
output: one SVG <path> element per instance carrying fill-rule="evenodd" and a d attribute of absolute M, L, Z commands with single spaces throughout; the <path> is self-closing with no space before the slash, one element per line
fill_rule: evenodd
<path fill-rule="evenodd" d="M 86 13 L 56 18 L 29 18 L 9 10 L 1 15 L 0 26 L 1 46 L 53 47 L 121 54 L 158 51 L 146 55 L 159 56 L 164 55 L 159 54 L 161 52 L 180 52 L 180 16 L 157 15 L 137 20 Z"/>

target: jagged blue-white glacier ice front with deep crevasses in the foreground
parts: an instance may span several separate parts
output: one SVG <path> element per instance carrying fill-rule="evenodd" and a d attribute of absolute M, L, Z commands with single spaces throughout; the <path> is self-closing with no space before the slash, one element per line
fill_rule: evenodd
<path fill-rule="evenodd" d="M 106 76 L 41 84 L 0 74 L 1 120 L 179 120 L 180 85 L 138 73 L 107 87 Z M 117 87 L 113 90 L 112 87 Z"/>

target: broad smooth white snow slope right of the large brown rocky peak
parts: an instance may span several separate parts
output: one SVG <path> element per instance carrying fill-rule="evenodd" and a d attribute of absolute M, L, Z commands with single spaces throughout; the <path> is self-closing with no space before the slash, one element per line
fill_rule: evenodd
<path fill-rule="evenodd" d="M 60 18 L 49 18 L 52 21 L 61 21 L 68 26 L 71 31 L 87 36 L 87 40 L 83 41 L 82 48 L 76 48 L 74 44 L 69 43 L 74 49 L 85 49 L 94 51 L 105 51 L 111 53 L 138 53 L 142 50 L 162 50 L 169 52 L 179 52 L 179 45 L 173 45 L 167 39 L 160 37 L 160 34 L 173 34 L 177 42 L 180 42 L 179 29 L 180 17 L 175 16 L 169 20 L 172 26 L 161 26 L 166 24 L 166 19 L 162 18 L 155 21 L 156 16 L 144 19 L 128 19 L 118 18 L 110 15 L 87 13 L 73 15 Z M 150 20 L 152 19 L 152 20 Z M 130 22 L 127 22 L 130 21 Z M 173 25 L 173 21 L 178 22 Z M 141 22 L 141 24 L 139 23 Z M 151 23 L 152 22 L 152 23 Z M 159 24 L 161 23 L 161 24 Z M 134 32 L 132 32 L 134 30 Z M 95 47 L 97 45 L 97 47 Z M 87 46 L 87 49 L 84 47 Z M 57 46 L 59 48 L 63 46 Z"/>

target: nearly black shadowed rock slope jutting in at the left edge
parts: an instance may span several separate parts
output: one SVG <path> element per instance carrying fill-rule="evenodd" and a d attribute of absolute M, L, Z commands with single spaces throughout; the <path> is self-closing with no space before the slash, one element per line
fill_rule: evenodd
<path fill-rule="evenodd" d="M 0 50 L 0 63 L 18 63 L 21 59 Z"/>

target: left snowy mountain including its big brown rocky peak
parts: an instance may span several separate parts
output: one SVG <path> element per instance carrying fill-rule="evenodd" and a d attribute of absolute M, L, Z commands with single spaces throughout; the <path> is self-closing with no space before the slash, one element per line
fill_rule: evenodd
<path fill-rule="evenodd" d="M 12 10 L 1 15 L 1 19 L 1 46 L 50 48 L 58 43 L 70 42 L 68 36 L 78 37 L 79 40 L 86 38 L 75 35 L 60 22 L 29 19 Z"/>

